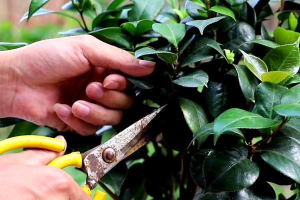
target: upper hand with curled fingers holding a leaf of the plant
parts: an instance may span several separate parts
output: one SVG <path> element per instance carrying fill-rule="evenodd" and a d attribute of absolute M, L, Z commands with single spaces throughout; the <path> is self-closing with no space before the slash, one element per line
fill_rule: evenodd
<path fill-rule="evenodd" d="M 0 116 L 13 116 L 59 130 L 92 134 L 117 124 L 133 96 L 114 70 L 143 76 L 154 62 L 133 56 L 90 35 L 39 41 L 0 52 Z M 2 68 L 2 69 L 1 69 Z M 2 115 L 1 115 L 2 113 Z"/>

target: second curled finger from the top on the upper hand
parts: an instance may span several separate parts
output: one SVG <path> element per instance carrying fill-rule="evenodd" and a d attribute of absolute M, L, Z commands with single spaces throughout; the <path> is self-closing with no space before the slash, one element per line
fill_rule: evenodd
<path fill-rule="evenodd" d="M 118 82 L 114 80 L 109 80 L 109 81 L 110 82 L 108 83 L 110 83 L 112 86 L 115 85 L 116 86 L 115 88 L 124 89 L 124 85 L 120 86 L 120 84 L 118 84 Z M 86 87 L 86 95 L 89 98 L 97 101 L 98 103 L 102 105 L 106 105 L 111 108 L 125 109 L 130 107 L 134 101 L 133 95 L 129 95 L 124 92 L 115 91 L 111 89 L 105 89 L 103 88 L 103 85 L 100 82 L 92 82 L 88 84 Z"/>

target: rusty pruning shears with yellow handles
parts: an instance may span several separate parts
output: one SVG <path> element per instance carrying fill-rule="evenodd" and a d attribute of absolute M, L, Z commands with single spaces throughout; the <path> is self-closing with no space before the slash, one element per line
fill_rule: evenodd
<path fill-rule="evenodd" d="M 48 165 L 59 168 L 66 166 L 81 168 L 87 175 L 86 184 L 82 186 L 82 189 L 90 196 L 90 189 L 95 188 L 104 174 L 159 133 L 156 124 L 160 120 L 158 116 L 161 115 L 164 107 L 165 105 L 139 119 L 101 145 L 84 153 L 71 152 L 62 155 Z M 0 141 L 0 154 L 11 149 L 27 147 L 57 152 L 61 152 L 65 148 L 64 141 L 60 139 L 39 135 L 22 135 Z M 105 196 L 104 192 L 97 190 L 93 200 L 103 200 Z"/>

